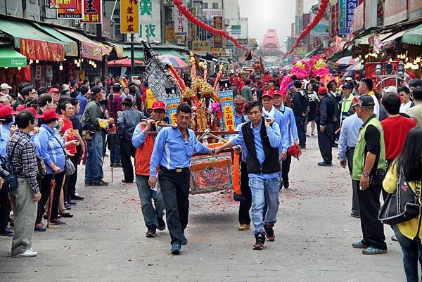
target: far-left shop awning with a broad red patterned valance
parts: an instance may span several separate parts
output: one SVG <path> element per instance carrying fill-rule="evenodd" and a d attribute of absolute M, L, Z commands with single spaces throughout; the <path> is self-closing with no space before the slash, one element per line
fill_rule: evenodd
<path fill-rule="evenodd" d="M 28 23 L 0 20 L 0 30 L 13 37 L 15 48 L 32 60 L 63 61 L 63 42 L 38 30 Z"/>

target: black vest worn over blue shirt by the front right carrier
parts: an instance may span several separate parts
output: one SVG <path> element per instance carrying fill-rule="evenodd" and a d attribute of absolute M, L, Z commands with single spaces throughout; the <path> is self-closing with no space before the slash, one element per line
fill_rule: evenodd
<path fill-rule="evenodd" d="M 255 148 L 255 141 L 252 129 L 250 128 L 250 122 L 243 124 L 242 134 L 243 139 L 245 140 L 245 146 L 248 149 L 248 155 L 246 156 L 246 167 L 248 167 L 248 173 L 270 174 L 279 172 L 279 148 L 271 147 L 267 136 L 267 129 L 265 129 L 264 119 L 262 119 L 261 124 L 261 141 L 265 154 L 265 160 L 262 162 L 262 165 L 257 158 L 257 150 Z"/>

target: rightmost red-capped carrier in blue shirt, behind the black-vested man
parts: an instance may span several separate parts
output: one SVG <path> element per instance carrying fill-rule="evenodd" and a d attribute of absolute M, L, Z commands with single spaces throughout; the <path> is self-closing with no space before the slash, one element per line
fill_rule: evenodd
<path fill-rule="evenodd" d="M 291 108 L 288 108 L 288 106 L 283 105 L 283 95 L 281 95 L 281 91 L 279 90 L 274 91 L 274 108 L 276 108 L 276 110 L 278 110 L 284 116 L 284 120 L 286 121 L 288 137 L 287 143 L 289 148 L 293 145 L 293 143 L 299 145 L 298 127 L 296 127 L 295 114 L 293 113 L 293 110 Z M 286 160 L 283 160 L 281 164 L 280 188 L 284 186 L 284 188 L 287 189 L 290 186 L 288 182 L 288 173 L 290 172 L 291 162 L 292 156 L 287 154 Z"/>

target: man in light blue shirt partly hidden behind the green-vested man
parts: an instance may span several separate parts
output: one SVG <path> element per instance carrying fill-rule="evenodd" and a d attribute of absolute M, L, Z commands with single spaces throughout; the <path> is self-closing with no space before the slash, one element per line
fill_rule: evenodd
<path fill-rule="evenodd" d="M 353 98 L 352 108 L 357 104 L 359 96 Z M 352 174 L 353 167 L 353 153 L 354 146 L 356 146 L 357 138 L 359 136 L 359 129 L 364 122 L 354 113 L 346 117 L 341 124 L 340 138 L 338 139 L 338 157 L 340 158 L 340 165 L 344 168 L 346 164 L 349 167 L 349 172 Z M 352 180 L 352 217 L 360 217 L 359 200 L 357 198 L 357 181 Z"/>

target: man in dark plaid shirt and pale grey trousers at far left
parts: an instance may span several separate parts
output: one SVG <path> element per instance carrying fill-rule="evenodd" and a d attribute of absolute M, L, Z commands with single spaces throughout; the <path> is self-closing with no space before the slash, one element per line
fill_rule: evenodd
<path fill-rule="evenodd" d="M 37 152 L 30 140 L 30 132 L 35 128 L 35 116 L 25 110 L 15 117 L 15 123 L 18 129 L 8 143 L 8 158 L 19 182 L 18 188 L 9 193 L 15 216 L 11 256 L 35 257 L 37 252 L 32 250 L 32 234 L 37 202 L 41 199 L 37 182 Z"/>

